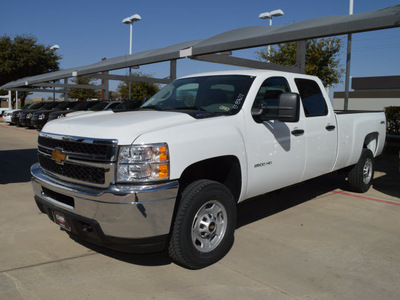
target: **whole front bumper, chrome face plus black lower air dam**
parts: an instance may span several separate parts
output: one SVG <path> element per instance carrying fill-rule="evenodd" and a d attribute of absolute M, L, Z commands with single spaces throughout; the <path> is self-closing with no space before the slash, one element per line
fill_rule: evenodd
<path fill-rule="evenodd" d="M 39 164 L 31 168 L 35 200 L 54 221 L 65 215 L 72 236 L 108 248 L 161 250 L 171 228 L 178 181 L 157 185 L 112 185 L 99 189 L 57 181 Z"/>

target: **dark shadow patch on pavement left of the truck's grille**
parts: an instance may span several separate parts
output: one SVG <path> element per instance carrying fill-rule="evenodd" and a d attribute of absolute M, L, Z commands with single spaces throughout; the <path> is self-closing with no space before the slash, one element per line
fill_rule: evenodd
<path fill-rule="evenodd" d="M 37 149 L 0 151 L 0 184 L 29 182 L 37 161 Z"/>

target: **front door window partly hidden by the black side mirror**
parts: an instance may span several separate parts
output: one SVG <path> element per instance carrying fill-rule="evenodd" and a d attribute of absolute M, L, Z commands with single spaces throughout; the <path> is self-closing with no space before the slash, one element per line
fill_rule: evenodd
<path fill-rule="evenodd" d="M 253 108 L 265 106 L 278 106 L 279 96 L 290 92 L 289 84 L 284 77 L 270 77 L 266 79 L 258 90 Z M 274 117 L 278 115 L 278 109 L 264 109 L 264 114 Z"/>

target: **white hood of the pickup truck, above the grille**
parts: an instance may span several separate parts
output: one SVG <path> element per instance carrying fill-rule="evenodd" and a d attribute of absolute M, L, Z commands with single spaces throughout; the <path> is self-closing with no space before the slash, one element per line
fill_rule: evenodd
<path fill-rule="evenodd" d="M 144 133 L 195 121 L 193 117 L 177 112 L 104 111 L 53 120 L 42 131 L 77 137 L 116 139 L 120 145 L 129 145 Z"/>

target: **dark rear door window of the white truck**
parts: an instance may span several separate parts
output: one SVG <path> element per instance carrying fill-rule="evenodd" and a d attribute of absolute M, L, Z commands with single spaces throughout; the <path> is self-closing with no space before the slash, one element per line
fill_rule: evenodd
<path fill-rule="evenodd" d="M 299 90 L 306 117 L 326 116 L 328 107 L 319 85 L 314 80 L 309 79 L 297 78 L 294 81 Z"/>

